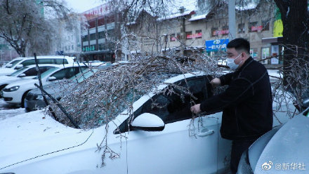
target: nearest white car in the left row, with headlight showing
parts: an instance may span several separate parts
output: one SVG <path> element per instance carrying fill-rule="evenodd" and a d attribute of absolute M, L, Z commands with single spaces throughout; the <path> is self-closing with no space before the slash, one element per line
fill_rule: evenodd
<path fill-rule="evenodd" d="M 81 67 L 79 67 L 81 66 Z M 53 67 L 48 69 L 46 72 L 41 74 L 42 85 L 46 85 L 48 83 L 53 83 L 53 81 L 61 80 L 61 79 L 70 79 L 70 77 L 78 74 L 83 69 L 87 67 L 84 65 L 58 65 L 58 67 Z M 1 91 L 1 96 L 4 98 L 5 102 L 11 104 L 18 104 L 24 107 L 24 100 L 27 93 L 37 88 L 34 86 L 34 83 L 39 85 L 38 77 L 34 77 L 34 79 L 24 79 L 21 81 L 16 81 L 8 84 Z"/>

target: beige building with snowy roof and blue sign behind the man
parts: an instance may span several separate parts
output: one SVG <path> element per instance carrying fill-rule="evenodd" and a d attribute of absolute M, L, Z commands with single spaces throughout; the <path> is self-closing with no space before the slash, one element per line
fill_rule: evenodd
<path fill-rule="evenodd" d="M 274 4 L 252 0 L 237 4 L 235 8 L 236 37 L 250 41 L 252 58 L 261 60 L 265 65 L 282 64 L 282 60 L 277 58 L 267 59 L 272 55 L 280 55 L 282 51 L 280 42 L 272 41 L 275 35 Z M 180 56 L 190 55 L 194 51 L 221 56 L 228 44 L 228 4 L 224 1 L 197 11 L 180 8 L 177 14 L 165 18 L 153 17 L 149 21 L 149 25 L 145 25 L 143 20 L 143 25 L 137 21 L 129 26 L 132 32 L 143 34 L 138 48 L 132 49 L 131 53 L 166 53 L 173 50 Z"/>

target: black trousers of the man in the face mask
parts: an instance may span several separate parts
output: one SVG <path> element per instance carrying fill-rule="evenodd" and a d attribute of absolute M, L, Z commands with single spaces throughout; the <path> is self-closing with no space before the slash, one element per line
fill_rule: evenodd
<path fill-rule="evenodd" d="M 233 140 L 232 141 L 232 152 L 230 154 L 230 170 L 232 173 L 237 173 L 238 163 L 242 152 L 252 145 L 256 140 Z"/>

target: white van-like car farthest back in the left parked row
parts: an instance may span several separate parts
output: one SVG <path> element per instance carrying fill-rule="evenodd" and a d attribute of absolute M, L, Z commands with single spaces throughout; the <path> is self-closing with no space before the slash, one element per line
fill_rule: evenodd
<path fill-rule="evenodd" d="M 37 60 L 38 64 L 72 65 L 74 62 L 74 57 L 63 55 L 42 55 L 37 56 Z M 8 62 L 6 65 L 4 65 L 4 67 L 0 68 L 0 76 L 11 74 L 17 69 L 27 65 L 35 65 L 34 57 L 15 58 L 11 60 L 11 62 Z"/>

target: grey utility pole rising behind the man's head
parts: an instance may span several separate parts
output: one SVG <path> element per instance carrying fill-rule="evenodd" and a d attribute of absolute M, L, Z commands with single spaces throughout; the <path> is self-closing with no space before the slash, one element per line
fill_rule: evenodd
<path fill-rule="evenodd" d="M 236 38 L 235 0 L 228 0 L 228 38 L 231 41 Z"/>

